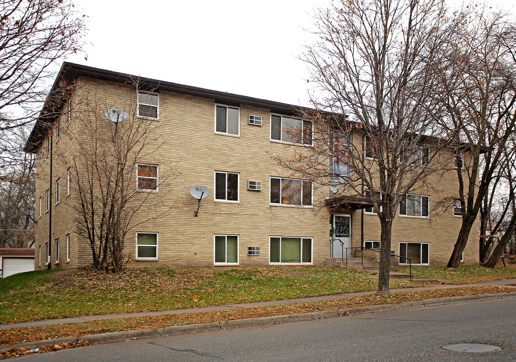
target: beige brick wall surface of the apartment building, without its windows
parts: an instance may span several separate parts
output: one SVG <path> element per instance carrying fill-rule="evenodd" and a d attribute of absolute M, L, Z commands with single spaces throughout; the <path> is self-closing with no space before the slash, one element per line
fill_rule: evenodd
<path fill-rule="evenodd" d="M 86 241 L 76 234 L 74 211 L 76 190 L 72 175 L 71 194 L 67 195 L 67 169 L 80 157 L 79 142 L 88 142 L 84 125 L 96 114 L 99 127 L 107 108 L 122 108 L 136 112 L 137 92 L 131 85 L 112 84 L 80 78 L 72 97 L 72 122 L 66 116 L 61 122 L 61 137 L 55 142 L 51 228 L 52 266 L 55 266 L 55 239 L 59 238 L 59 268 L 88 265 L 91 257 Z M 235 106 L 235 105 L 231 105 Z M 66 109 L 67 105 L 63 109 Z M 320 263 L 329 256 L 329 209 L 316 213 L 311 207 L 275 206 L 269 203 L 270 176 L 288 177 L 269 154 L 293 155 L 298 146 L 270 141 L 270 111 L 241 105 L 240 135 L 215 133 L 215 101 L 178 93 L 159 93 L 159 120 L 153 121 L 155 139 L 148 139 L 144 162 L 159 165 L 159 191 L 146 194 L 148 199 L 126 239 L 130 267 L 193 267 L 214 265 L 214 235 L 238 235 L 239 265 L 266 265 L 269 262 L 269 237 L 291 236 L 313 238 L 313 262 Z M 249 114 L 262 116 L 262 126 L 248 124 Z M 102 120 L 102 122 L 101 122 Z M 43 145 L 45 142 L 43 142 Z M 214 199 L 215 172 L 239 173 L 239 201 L 219 202 Z M 38 159 L 37 208 L 49 188 L 49 158 Z M 55 203 L 55 180 L 61 180 L 61 201 Z M 247 190 L 248 180 L 262 182 L 262 191 Z M 453 177 L 440 180 L 443 189 L 454 189 Z M 136 174 L 134 175 L 136 186 Z M 188 190 L 202 185 L 210 195 L 202 200 L 199 216 L 194 217 L 197 201 Z M 328 190 L 321 190 L 320 192 Z M 455 192 L 455 191 L 454 191 Z M 430 202 L 439 194 L 430 194 Z M 318 193 L 314 199 L 324 195 Z M 352 216 L 352 246 L 360 246 L 361 211 L 340 210 Z M 163 217 L 158 216 L 165 213 Z M 39 216 L 39 211 L 36 211 Z M 49 240 L 49 214 L 43 210 L 37 218 L 36 268 L 39 247 Z M 151 220 L 152 219 L 152 220 Z M 393 249 L 398 242 L 430 242 L 430 264 L 444 264 L 453 248 L 460 227 L 460 218 L 453 209 L 442 216 L 428 219 L 396 217 L 393 224 Z M 474 230 L 476 230 L 474 226 Z M 158 259 L 137 260 L 136 233 L 154 232 L 159 235 Z M 70 261 L 66 259 L 66 235 L 70 234 Z M 476 235 L 476 233 L 472 233 Z M 364 215 L 364 240 L 379 240 L 380 228 L 375 215 Z M 472 240 L 474 237 L 472 237 Z M 247 246 L 260 246 L 260 256 L 248 256 Z M 478 246 L 474 241 L 466 247 L 465 262 L 476 264 Z"/>

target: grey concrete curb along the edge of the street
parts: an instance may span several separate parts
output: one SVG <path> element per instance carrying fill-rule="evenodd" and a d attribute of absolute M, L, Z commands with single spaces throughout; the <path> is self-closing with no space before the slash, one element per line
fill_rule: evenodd
<path fill-rule="evenodd" d="M 251 327 L 259 325 L 279 324 L 279 323 L 291 323 L 309 321 L 314 319 L 323 318 L 335 318 L 344 317 L 358 314 L 368 314 L 381 311 L 392 311 L 422 307 L 432 307 L 443 304 L 453 304 L 460 302 L 477 302 L 486 301 L 491 299 L 502 299 L 516 296 L 516 291 L 493 293 L 493 294 L 477 294 L 477 295 L 464 295 L 463 297 L 445 297 L 437 299 L 425 299 L 422 301 L 404 302 L 398 304 L 382 304 L 382 305 L 367 305 L 356 308 L 344 308 L 337 310 L 321 310 L 316 312 L 307 312 L 299 314 L 287 314 L 280 316 L 270 317 L 258 317 L 258 318 L 245 318 L 245 319 L 234 319 L 221 322 L 211 323 L 197 323 L 197 324 L 186 324 L 186 325 L 173 325 L 162 328 L 151 328 L 147 330 L 133 330 L 133 331 L 122 331 L 122 332 L 110 332 L 93 334 L 79 337 L 65 337 L 56 339 L 46 339 L 42 341 L 24 342 L 11 345 L 0 345 L 0 352 L 5 352 L 10 349 L 35 349 L 47 346 L 53 346 L 61 343 L 74 343 L 77 340 L 84 340 L 87 342 L 95 343 L 109 343 L 109 342 L 120 342 L 130 339 L 141 339 L 141 338 L 153 338 L 161 336 L 173 336 L 188 333 L 200 333 L 210 332 L 219 330 L 229 330 L 232 328 Z"/>

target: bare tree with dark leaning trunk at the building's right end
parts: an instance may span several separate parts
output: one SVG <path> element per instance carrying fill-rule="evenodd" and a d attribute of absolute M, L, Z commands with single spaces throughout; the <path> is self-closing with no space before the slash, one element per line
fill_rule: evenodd
<path fill-rule="evenodd" d="M 480 9 L 442 54 L 436 93 L 446 110 L 441 126 L 470 144 L 457 150 L 457 195 L 462 226 L 448 261 L 457 268 L 485 195 L 489 192 L 516 121 L 516 27 L 502 13 Z M 458 132 L 457 132 L 458 131 Z M 453 133 L 453 134 L 452 134 Z M 484 241 L 480 240 L 483 255 Z"/>

